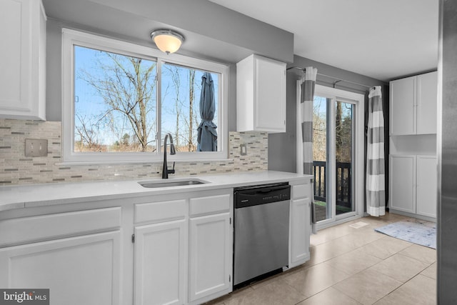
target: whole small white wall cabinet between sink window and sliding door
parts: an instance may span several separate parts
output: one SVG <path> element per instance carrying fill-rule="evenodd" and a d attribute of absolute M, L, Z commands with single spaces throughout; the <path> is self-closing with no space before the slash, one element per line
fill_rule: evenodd
<path fill-rule="evenodd" d="M 286 132 L 286 64 L 251 55 L 236 64 L 237 131 Z"/>

